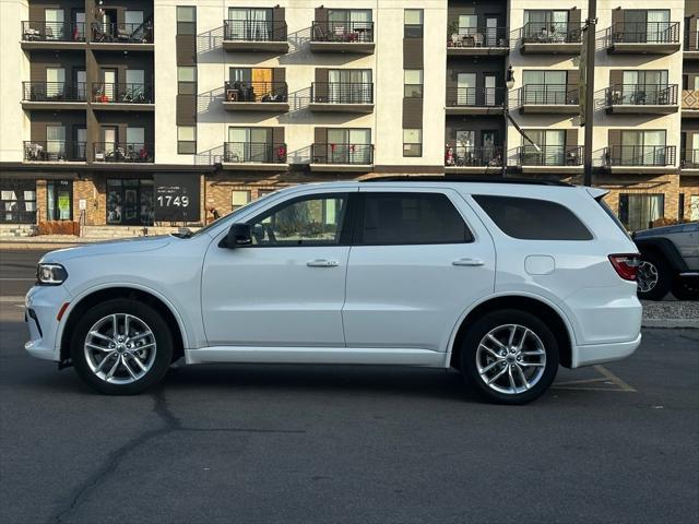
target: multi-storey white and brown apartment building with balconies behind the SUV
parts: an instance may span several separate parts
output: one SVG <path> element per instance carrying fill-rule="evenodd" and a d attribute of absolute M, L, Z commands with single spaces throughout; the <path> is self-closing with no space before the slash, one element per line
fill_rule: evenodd
<path fill-rule="evenodd" d="M 386 174 L 580 183 L 588 146 L 628 227 L 699 219 L 698 12 L 597 2 L 585 144 L 587 3 L 5 0 L 0 229 L 194 226 Z"/>

